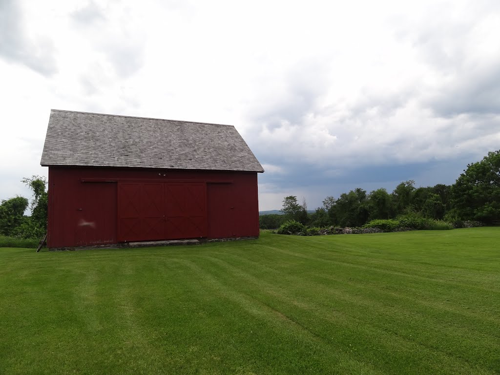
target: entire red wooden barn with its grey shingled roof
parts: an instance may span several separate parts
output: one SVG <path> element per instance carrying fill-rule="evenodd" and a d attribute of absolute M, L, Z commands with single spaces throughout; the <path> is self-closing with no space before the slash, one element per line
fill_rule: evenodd
<path fill-rule="evenodd" d="M 257 172 L 234 126 L 50 111 L 50 248 L 258 236 Z"/>

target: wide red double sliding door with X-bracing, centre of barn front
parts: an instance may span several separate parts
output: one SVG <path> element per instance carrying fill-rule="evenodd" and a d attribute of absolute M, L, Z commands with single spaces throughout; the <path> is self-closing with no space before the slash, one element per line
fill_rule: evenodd
<path fill-rule="evenodd" d="M 118 241 L 206 236 L 205 184 L 119 182 Z"/>

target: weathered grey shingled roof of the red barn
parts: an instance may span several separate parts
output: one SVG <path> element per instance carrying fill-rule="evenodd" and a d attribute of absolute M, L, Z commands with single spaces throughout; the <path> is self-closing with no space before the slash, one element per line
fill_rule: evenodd
<path fill-rule="evenodd" d="M 59 109 L 41 165 L 264 171 L 232 125 Z"/>

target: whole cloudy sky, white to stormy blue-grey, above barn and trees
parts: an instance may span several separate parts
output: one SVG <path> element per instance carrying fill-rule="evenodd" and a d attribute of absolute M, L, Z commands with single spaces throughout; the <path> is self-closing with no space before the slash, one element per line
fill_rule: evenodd
<path fill-rule="evenodd" d="M 315 208 L 500 149 L 500 1 L 0 0 L 0 82 L 0 199 L 56 108 L 235 125 Z"/>

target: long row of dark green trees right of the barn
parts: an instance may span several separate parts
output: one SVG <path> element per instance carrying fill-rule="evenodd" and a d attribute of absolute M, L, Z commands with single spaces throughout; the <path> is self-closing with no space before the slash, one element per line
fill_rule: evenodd
<path fill-rule="evenodd" d="M 416 187 L 414 180 L 402 181 L 392 192 L 384 188 L 369 193 L 362 188 L 327 196 L 322 206 L 308 213 L 294 195 L 283 199 L 283 215 L 261 215 L 260 228 L 274 229 L 286 220 L 324 227 L 362 226 L 370 220 L 417 214 L 451 223 L 475 220 L 491 224 L 500 220 L 500 150 L 488 152 L 482 160 L 467 164 L 452 185 Z"/>

